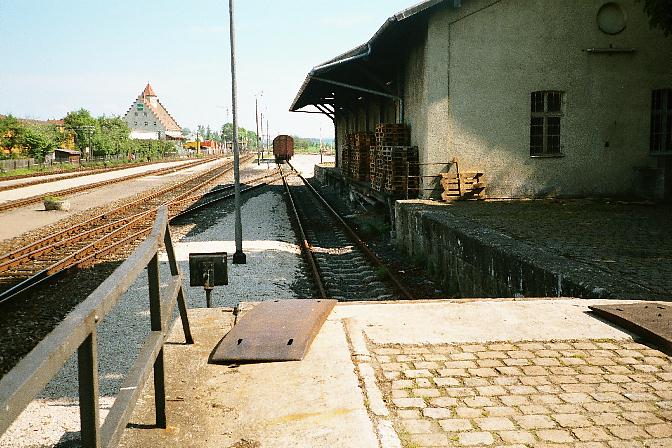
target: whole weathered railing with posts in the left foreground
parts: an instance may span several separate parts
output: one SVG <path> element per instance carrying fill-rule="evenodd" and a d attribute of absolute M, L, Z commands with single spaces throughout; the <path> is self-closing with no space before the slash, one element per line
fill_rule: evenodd
<path fill-rule="evenodd" d="M 170 265 L 170 282 L 160 287 L 158 252 L 165 245 Z M 98 351 L 96 326 L 147 268 L 151 332 L 131 367 L 114 405 L 99 425 Z M 166 428 L 166 394 L 163 344 L 178 304 L 184 337 L 193 344 L 182 273 L 168 227 L 168 210 L 161 207 L 149 237 L 103 283 L 80 303 L 16 367 L 0 380 L 0 435 L 77 352 L 81 445 L 110 447 L 119 443 L 137 402 L 150 367 L 154 373 L 156 425 Z"/>

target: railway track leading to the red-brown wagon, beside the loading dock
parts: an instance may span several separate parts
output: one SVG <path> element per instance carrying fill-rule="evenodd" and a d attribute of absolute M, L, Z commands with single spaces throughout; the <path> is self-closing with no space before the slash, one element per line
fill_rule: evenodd
<path fill-rule="evenodd" d="M 297 172 L 296 177 L 283 177 L 283 183 L 319 297 L 342 301 L 413 298 L 303 176 Z"/>

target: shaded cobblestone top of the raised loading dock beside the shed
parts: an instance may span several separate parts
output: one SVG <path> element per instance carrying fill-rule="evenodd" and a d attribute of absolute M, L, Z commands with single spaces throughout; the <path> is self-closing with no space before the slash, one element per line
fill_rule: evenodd
<path fill-rule="evenodd" d="M 672 206 L 605 200 L 459 202 L 449 213 L 672 297 Z"/>

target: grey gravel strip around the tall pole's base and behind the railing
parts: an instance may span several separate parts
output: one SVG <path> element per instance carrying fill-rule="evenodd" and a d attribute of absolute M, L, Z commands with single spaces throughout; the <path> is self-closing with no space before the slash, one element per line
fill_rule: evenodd
<path fill-rule="evenodd" d="M 299 157 L 301 169 L 310 171 L 311 160 Z M 319 156 L 317 156 L 319 160 Z M 264 165 L 248 165 L 241 169 L 241 179 L 256 177 L 267 170 Z M 229 285 L 213 291 L 213 306 L 231 307 L 240 301 L 287 299 L 311 295 L 311 282 L 303 274 L 303 260 L 296 238 L 289 225 L 282 185 L 258 190 L 244 196 L 241 208 L 243 251 L 247 264 L 232 265 L 233 241 L 232 203 L 203 210 L 177 223 L 173 228 L 180 269 L 188 274 L 188 254 L 201 251 L 229 253 Z M 169 271 L 162 257 L 161 274 Z M 188 307 L 205 306 L 202 288 L 191 288 L 185 281 Z M 134 362 L 142 340 L 149 332 L 147 277 L 141 275 L 98 326 L 101 418 L 113 403 L 114 395 Z M 224 336 L 224 335 L 222 335 Z M 170 366 L 168 366 L 170 369 Z M 70 359 L 12 427 L 0 437 L 0 446 L 72 446 L 79 438 L 76 357 Z M 168 370 L 168 374 L 178 374 Z"/>

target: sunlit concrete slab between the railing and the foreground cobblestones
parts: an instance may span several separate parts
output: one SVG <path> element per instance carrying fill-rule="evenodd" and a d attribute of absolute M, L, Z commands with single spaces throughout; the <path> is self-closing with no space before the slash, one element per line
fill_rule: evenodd
<path fill-rule="evenodd" d="M 190 310 L 190 319 L 196 345 L 166 350 L 169 428 L 147 429 L 149 387 L 122 447 L 378 446 L 341 322 L 325 323 L 303 361 L 221 366 L 207 358 L 230 310 Z"/>

